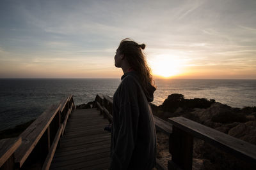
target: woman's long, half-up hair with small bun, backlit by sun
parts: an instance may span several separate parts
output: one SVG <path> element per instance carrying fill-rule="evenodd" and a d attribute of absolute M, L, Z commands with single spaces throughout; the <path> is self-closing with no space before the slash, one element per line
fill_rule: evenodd
<path fill-rule="evenodd" d="M 147 89 L 148 83 L 154 86 L 151 69 L 148 67 L 145 54 L 142 52 L 145 46 L 145 44 L 139 45 L 131 39 L 125 38 L 118 47 L 118 50 L 120 50 L 120 53 L 124 54 L 124 57 L 127 59 L 132 69 L 137 71 L 143 89 Z"/>

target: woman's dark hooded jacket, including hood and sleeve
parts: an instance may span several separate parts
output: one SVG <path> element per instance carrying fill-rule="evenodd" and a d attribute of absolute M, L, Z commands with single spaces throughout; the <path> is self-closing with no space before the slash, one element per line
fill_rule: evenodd
<path fill-rule="evenodd" d="M 156 129 L 149 101 L 156 88 L 148 83 L 145 92 L 136 71 L 121 79 L 113 96 L 110 169 L 151 170 L 156 165 Z"/>

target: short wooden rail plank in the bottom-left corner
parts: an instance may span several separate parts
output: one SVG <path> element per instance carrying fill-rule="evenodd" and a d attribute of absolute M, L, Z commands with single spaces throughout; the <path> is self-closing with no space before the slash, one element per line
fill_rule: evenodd
<path fill-rule="evenodd" d="M 21 138 L 7 138 L 0 141 L 0 167 L 3 166 L 12 154 L 19 148 Z"/>

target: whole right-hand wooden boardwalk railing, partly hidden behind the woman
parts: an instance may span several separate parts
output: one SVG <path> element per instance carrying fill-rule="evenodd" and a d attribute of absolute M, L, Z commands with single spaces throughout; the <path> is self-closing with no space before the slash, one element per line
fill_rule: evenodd
<path fill-rule="evenodd" d="M 112 122 L 113 101 L 111 97 L 97 94 L 95 107 L 99 108 L 109 122 Z M 157 169 L 192 169 L 194 137 L 203 139 L 212 146 L 234 155 L 237 159 L 256 166 L 255 145 L 184 117 L 168 118 L 168 121 L 165 122 L 154 116 L 156 129 L 169 136 L 169 152 L 172 155 L 172 160 L 168 161 L 168 167 L 163 167 L 157 160 Z"/>

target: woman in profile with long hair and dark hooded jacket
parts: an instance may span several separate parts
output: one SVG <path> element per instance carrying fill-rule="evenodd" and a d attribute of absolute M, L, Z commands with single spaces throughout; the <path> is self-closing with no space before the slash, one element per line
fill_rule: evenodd
<path fill-rule="evenodd" d="M 113 96 L 110 169 L 152 169 L 156 164 L 156 129 L 150 108 L 156 90 L 143 50 L 123 39 L 116 50 L 115 66 L 122 76 Z"/>

